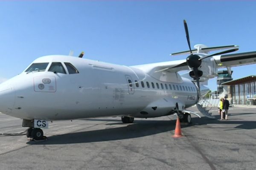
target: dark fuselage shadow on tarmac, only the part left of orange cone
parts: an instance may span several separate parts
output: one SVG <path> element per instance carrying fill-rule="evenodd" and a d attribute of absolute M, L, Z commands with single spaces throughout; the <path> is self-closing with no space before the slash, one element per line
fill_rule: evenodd
<path fill-rule="evenodd" d="M 105 119 L 106 120 L 106 119 Z M 99 119 L 98 119 L 99 121 Z M 111 121 L 108 119 L 108 121 Z M 135 121 L 134 121 L 135 122 Z M 49 136 L 45 142 L 27 142 L 27 144 L 74 144 L 88 142 L 103 142 L 121 139 L 132 139 L 154 135 L 175 129 L 175 120 L 168 121 L 136 121 L 124 127 L 90 130 Z"/>

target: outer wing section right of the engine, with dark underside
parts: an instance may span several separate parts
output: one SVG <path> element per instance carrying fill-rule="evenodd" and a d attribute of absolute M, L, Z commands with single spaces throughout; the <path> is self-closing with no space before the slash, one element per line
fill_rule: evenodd
<path fill-rule="evenodd" d="M 256 51 L 213 56 L 218 68 L 235 67 L 256 63 Z"/>

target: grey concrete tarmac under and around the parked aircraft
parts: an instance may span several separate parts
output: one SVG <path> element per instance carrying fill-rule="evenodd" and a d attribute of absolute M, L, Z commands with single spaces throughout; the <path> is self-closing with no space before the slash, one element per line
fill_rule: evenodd
<path fill-rule="evenodd" d="M 195 107 L 188 110 L 197 111 Z M 48 141 L 0 135 L 0 170 L 255 170 L 256 110 L 230 108 L 229 120 L 192 116 L 174 139 L 176 116 L 49 122 Z M 0 113 L 0 133 L 26 130 Z"/>

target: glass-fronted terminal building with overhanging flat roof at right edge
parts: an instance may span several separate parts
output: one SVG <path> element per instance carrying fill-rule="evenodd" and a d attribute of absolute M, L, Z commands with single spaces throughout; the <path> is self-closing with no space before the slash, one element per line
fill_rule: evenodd
<path fill-rule="evenodd" d="M 256 105 L 256 75 L 221 83 L 232 105 Z"/>

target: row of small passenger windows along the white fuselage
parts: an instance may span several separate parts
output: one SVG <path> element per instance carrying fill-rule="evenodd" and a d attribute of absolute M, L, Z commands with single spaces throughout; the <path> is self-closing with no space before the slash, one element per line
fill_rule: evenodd
<path fill-rule="evenodd" d="M 130 87 L 133 86 L 132 81 L 130 79 L 128 79 L 128 83 L 129 83 Z M 145 88 L 145 84 L 144 84 L 143 81 L 141 81 L 140 84 L 141 84 L 142 88 Z M 139 84 L 139 82 L 137 80 L 135 80 L 135 85 L 136 85 L 137 88 L 140 87 L 140 84 Z M 150 88 L 150 87 L 158 88 L 158 89 L 162 88 L 162 89 L 166 89 L 166 90 L 168 90 L 168 89 L 172 90 L 173 89 L 173 90 L 177 90 L 177 91 L 196 91 L 194 87 L 189 87 L 189 86 L 184 86 L 184 85 L 173 85 L 173 84 L 171 85 L 171 84 L 166 84 L 166 83 L 164 83 L 164 84 L 160 83 L 159 84 L 158 82 L 156 82 L 156 83 L 154 83 L 154 82 L 151 82 L 151 83 L 146 82 L 146 86 L 148 88 Z"/>

